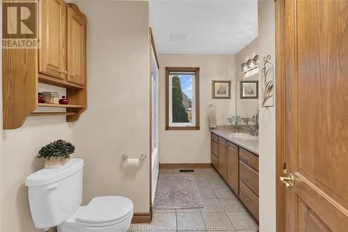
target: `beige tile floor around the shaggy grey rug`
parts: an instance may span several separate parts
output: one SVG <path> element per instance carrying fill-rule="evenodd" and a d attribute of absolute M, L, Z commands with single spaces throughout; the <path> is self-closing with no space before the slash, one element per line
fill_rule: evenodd
<path fill-rule="evenodd" d="M 194 169 L 203 208 L 154 210 L 151 224 L 132 224 L 129 232 L 142 231 L 258 231 L 258 224 L 215 169 Z M 161 174 L 180 173 L 160 169 Z"/>

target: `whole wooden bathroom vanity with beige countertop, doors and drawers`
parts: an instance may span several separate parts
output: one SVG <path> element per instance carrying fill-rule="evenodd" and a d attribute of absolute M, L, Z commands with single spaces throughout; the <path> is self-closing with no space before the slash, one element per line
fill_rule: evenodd
<path fill-rule="evenodd" d="M 259 219 L 258 139 L 229 137 L 232 130 L 211 131 L 211 162 L 255 219 Z"/>

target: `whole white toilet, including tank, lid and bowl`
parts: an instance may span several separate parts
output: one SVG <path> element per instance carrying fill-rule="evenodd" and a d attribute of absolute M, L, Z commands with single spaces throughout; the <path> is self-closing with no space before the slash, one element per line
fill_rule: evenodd
<path fill-rule="evenodd" d="M 127 231 L 133 203 L 123 196 L 98 196 L 81 206 L 84 160 L 72 159 L 57 169 L 41 169 L 26 178 L 36 228 L 58 232 Z"/>

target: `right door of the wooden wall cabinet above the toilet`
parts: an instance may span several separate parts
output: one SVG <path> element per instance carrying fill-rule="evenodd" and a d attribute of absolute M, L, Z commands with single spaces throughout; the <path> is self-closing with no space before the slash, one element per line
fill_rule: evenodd
<path fill-rule="evenodd" d="M 86 82 L 86 16 L 76 5 L 68 6 L 68 82 Z"/>

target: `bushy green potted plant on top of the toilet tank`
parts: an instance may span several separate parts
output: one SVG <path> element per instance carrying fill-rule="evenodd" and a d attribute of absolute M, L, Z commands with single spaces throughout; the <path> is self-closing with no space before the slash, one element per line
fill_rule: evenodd
<path fill-rule="evenodd" d="M 38 153 L 38 158 L 45 158 L 45 168 L 58 168 L 70 162 L 70 155 L 75 147 L 70 142 L 57 140 L 43 146 Z"/>

